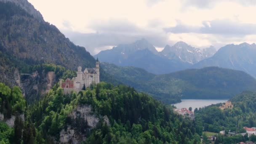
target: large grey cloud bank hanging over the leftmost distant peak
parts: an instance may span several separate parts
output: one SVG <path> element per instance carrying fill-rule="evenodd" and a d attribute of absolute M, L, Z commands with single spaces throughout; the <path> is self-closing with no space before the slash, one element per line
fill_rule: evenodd
<path fill-rule="evenodd" d="M 142 29 L 125 20 L 94 21 L 89 27 L 95 32 L 81 33 L 67 29 L 61 31 L 73 43 L 84 46 L 92 55 L 115 45 L 133 43 L 141 38 L 147 39 L 156 47 L 164 47 L 167 43 L 173 43 L 163 30 L 155 32 Z"/>

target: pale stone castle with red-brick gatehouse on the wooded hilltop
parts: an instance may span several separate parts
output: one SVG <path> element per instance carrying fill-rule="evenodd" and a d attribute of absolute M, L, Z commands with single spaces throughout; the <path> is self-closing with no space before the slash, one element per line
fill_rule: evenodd
<path fill-rule="evenodd" d="M 77 68 L 77 77 L 73 77 L 72 80 L 67 78 L 59 80 L 59 85 L 63 88 L 64 94 L 76 91 L 81 91 L 84 87 L 88 88 L 91 84 L 99 83 L 99 61 L 96 61 L 95 68 L 85 68 L 82 72 L 82 67 Z"/>

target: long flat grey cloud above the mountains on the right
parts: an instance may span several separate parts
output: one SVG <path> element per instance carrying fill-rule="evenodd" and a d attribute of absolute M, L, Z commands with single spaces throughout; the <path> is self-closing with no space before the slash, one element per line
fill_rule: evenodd
<path fill-rule="evenodd" d="M 178 23 L 175 27 L 164 28 L 171 33 L 200 33 L 216 35 L 253 35 L 256 34 L 256 24 L 241 23 L 239 21 L 213 20 L 203 21 L 201 27 L 193 27 Z"/>

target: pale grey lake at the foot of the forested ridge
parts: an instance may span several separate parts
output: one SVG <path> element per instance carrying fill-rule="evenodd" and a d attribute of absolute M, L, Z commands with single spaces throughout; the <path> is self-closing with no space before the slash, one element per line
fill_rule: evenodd
<path fill-rule="evenodd" d="M 200 107 L 209 106 L 211 104 L 224 103 L 228 99 L 181 99 L 180 103 L 173 104 L 177 109 L 192 107 L 192 111 L 195 108 L 199 109 Z"/>

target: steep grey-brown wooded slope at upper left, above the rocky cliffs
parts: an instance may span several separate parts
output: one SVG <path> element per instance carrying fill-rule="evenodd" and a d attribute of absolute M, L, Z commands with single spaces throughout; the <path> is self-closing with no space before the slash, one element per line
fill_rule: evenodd
<path fill-rule="evenodd" d="M 70 42 L 55 26 L 39 21 L 13 3 L 0 3 L 3 53 L 28 64 L 55 63 L 69 69 L 94 66 L 90 53 Z"/>

